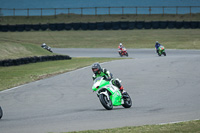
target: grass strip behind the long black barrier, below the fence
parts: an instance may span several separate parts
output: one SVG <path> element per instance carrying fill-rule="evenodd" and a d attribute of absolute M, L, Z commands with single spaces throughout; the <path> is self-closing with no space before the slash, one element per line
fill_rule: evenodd
<path fill-rule="evenodd" d="M 197 14 L 146 14 L 146 15 L 75 15 L 60 14 L 55 16 L 3 16 L 0 24 L 46 24 L 46 23 L 71 23 L 71 22 L 110 22 L 110 21 L 199 21 Z"/>

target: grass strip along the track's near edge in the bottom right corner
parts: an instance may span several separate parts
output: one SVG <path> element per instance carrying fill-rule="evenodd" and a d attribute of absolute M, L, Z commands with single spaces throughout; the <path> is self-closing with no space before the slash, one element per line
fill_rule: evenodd
<path fill-rule="evenodd" d="M 165 125 L 145 125 L 68 133 L 200 133 L 200 120 Z"/>

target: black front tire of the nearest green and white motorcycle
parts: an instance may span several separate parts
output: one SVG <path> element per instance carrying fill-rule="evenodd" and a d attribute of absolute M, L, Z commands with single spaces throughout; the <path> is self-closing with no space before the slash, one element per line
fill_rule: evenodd
<path fill-rule="evenodd" d="M 107 110 L 113 109 L 113 105 L 112 105 L 110 98 L 108 99 L 105 95 L 100 94 L 99 100 L 100 100 L 101 104 L 104 106 L 105 109 L 107 109 Z"/>

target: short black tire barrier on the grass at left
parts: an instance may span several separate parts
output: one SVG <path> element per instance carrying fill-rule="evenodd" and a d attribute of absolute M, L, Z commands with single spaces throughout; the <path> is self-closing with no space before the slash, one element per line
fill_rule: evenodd
<path fill-rule="evenodd" d="M 70 60 L 71 57 L 67 55 L 54 55 L 54 56 L 34 56 L 19 59 L 0 60 L 0 66 L 17 66 L 29 63 L 53 61 L 53 60 Z"/>

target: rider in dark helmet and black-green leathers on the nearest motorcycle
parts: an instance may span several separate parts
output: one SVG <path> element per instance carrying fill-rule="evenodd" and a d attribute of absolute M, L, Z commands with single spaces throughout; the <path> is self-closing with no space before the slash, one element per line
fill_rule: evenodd
<path fill-rule="evenodd" d="M 99 63 L 94 63 L 92 65 L 92 71 L 94 73 L 93 80 L 95 80 L 97 77 L 102 76 L 107 80 L 112 80 L 112 84 L 119 88 L 120 92 L 123 94 L 124 87 L 121 85 L 120 81 L 118 79 L 113 79 L 112 74 L 105 68 L 101 68 Z"/>

